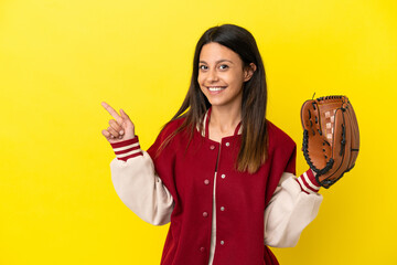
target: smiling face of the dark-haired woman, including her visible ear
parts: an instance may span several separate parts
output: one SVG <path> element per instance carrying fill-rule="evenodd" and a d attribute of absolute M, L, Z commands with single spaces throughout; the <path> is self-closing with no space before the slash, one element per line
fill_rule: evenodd
<path fill-rule="evenodd" d="M 200 53 L 197 82 L 213 107 L 240 107 L 243 85 L 254 71 L 254 64 L 244 67 L 237 53 L 211 42 Z"/>

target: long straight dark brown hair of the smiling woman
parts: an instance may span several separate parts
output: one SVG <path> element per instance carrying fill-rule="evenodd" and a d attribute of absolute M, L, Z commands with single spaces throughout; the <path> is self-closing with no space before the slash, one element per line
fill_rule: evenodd
<path fill-rule="evenodd" d="M 251 78 L 246 82 L 243 87 L 243 135 L 242 146 L 236 161 L 238 171 L 247 170 L 254 173 L 265 162 L 268 149 L 266 128 L 266 74 L 254 36 L 247 30 L 234 24 L 211 28 L 200 38 L 194 52 L 193 73 L 186 97 L 170 123 L 182 117 L 185 119 L 182 125 L 165 139 L 160 150 L 182 130 L 186 129 L 190 132 L 190 140 L 193 138 L 197 125 L 198 130 L 203 130 L 202 120 L 211 107 L 211 104 L 202 93 L 197 82 L 198 61 L 202 47 L 211 42 L 216 42 L 237 53 L 245 67 L 249 66 L 250 63 L 254 63 L 257 67 Z"/>

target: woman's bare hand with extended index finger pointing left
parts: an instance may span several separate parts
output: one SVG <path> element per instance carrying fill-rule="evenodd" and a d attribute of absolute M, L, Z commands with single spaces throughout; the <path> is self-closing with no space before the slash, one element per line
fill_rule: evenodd
<path fill-rule="evenodd" d="M 120 142 L 135 137 L 135 126 L 128 115 L 120 109 L 120 115 L 107 103 L 101 103 L 103 107 L 115 118 L 109 120 L 109 127 L 101 132 L 110 142 Z"/>

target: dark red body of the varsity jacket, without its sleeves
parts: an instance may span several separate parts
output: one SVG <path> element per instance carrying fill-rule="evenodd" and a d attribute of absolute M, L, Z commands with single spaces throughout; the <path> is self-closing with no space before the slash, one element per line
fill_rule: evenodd
<path fill-rule="evenodd" d="M 213 181 L 216 178 L 216 265 L 278 264 L 264 245 L 264 212 L 282 172 L 296 173 L 296 144 L 268 123 L 269 156 L 257 173 L 238 172 L 235 161 L 242 136 L 212 141 L 196 131 L 190 142 L 178 134 L 160 152 L 161 142 L 182 119 L 161 131 L 148 153 L 174 199 L 161 264 L 207 265 L 211 244 Z M 225 174 L 225 178 L 221 178 Z M 208 183 L 210 184 L 206 184 Z M 224 209 L 221 210 L 221 206 Z M 203 214 L 203 213 L 206 214 Z"/>

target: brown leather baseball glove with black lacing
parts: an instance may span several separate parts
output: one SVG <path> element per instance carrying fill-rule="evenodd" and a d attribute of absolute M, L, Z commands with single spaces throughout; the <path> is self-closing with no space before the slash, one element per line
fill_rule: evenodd
<path fill-rule="evenodd" d="M 346 96 L 307 100 L 301 109 L 303 156 L 315 179 L 330 188 L 350 171 L 360 148 L 358 124 Z"/>

